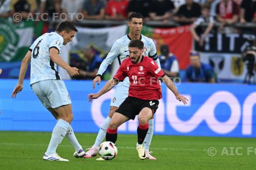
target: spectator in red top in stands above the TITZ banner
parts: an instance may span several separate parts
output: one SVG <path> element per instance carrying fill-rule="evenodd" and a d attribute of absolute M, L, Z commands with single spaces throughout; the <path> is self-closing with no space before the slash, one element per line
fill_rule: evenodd
<path fill-rule="evenodd" d="M 239 6 L 233 0 L 221 0 L 216 7 L 216 14 L 222 30 L 224 26 L 238 22 Z"/>

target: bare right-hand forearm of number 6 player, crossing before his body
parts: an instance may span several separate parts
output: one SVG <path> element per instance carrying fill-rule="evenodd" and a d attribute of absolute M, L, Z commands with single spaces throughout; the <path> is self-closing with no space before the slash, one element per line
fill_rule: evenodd
<path fill-rule="evenodd" d="M 50 59 L 56 63 L 57 65 L 61 66 L 63 69 L 66 69 L 70 76 L 77 76 L 78 68 L 71 67 L 69 64 L 67 64 L 58 54 L 58 50 L 56 48 L 50 49 Z"/>

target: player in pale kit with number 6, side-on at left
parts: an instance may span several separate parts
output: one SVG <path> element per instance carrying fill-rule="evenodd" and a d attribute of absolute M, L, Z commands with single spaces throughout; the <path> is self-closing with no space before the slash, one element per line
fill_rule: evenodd
<path fill-rule="evenodd" d="M 16 98 L 17 93 L 22 91 L 24 77 L 31 62 L 30 86 L 42 105 L 57 120 L 48 149 L 43 156 L 44 160 L 69 161 L 61 158 L 56 153 L 58 144 L 65 136 L 74 146 L 76 150 L 74 156 L 76 158 L 85 155 L 70 125 L 73 120 L 73 114 L 68 90 L 56 69 L 57 65 L 59 65 L 66 69 L 70 76 L 78 75 L 78 69 L 69 66 L 59 56 L 62 45 L 72 41 L 75 32 L 77 32 L 77 29 L 72 22 L 62 21 L 55 32 L 46 33 L 38 37 L 22 61 L 18 83 L 12 92 L 12 98 Z"/>

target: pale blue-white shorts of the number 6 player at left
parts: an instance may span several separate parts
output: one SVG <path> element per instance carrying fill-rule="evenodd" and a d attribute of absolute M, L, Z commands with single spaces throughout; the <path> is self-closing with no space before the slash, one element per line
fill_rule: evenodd
<path fill-rule="evenodd" d="M 62 80 L 44 80 L 32 84 L 31 87 L 47 109 L 71 104 L 68 90 Z"/>

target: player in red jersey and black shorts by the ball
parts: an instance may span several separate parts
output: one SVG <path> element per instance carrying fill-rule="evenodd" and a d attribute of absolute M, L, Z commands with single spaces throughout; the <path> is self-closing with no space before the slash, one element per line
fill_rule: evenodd
<path fill-rule="evenodd" d="M 106 141 L 116 142 L 117 128 L 129 119 L 134 119 L 136 115 L 139 119 L 137 129 L 138 142 L 136 150 L 140 159 L 146 159 L 143 148 L 143 140 L 148 130 L 148 120 L 153 116 L 158 108 L 158 100 L 162 98 L 159 79 L 162 79 L 166 86 L 173 91 L 176 99 L 186 104 L 187 99 L 180 95 L 172 80 L 170 80 L 156 62 L 144 57 L 143 42 L 138 39 L 129 43 L 130 57 L 124 59 L 116 75 L 109 80 L 97 94 L 89 94 L 90 101 L 99 98 L 102 94 L 110 91 L 119 81 L 125 77 L 130 79 L 128 97 L 114 113 L 109 128 L 106 131 Z"/>

